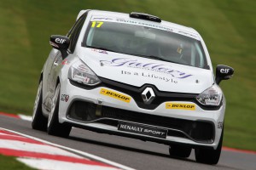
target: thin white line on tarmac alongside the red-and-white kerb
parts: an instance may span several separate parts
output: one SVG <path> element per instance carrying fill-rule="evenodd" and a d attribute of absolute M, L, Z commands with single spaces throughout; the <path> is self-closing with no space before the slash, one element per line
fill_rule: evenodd
<path fill-rule="evenodd" d="M 90 158 L 90 159 L 92 159 L 92 160 L 102 161 L 102 162 L 104 162 L 104 163 L 107 163 L 108 165 L 112 165 L 113 167 L 119 167 L 119 168 L 125 169 L 125 170 L 135 170 L 135 169 L 133 169 L 133 168 L 131 168 L 131 167 L 126 167 L 126 166 L 121 165 L 121 164 L 119 164 L 119 163 L 116 163 L 116 162 L 114 162 L 114 161 L 108 161 L 107 159 L 104 159 L 104 158 L 99 157 L 99 156 L 94 156 L 94 155 L 89 154 L 89 153 L 84 152 L 84 151 L 74 150 L 74 149 L 72 149 L 72 148 L 68 148 L 68 147 L 63 146 L 63 145 L 60 145 L 60 144 L 54 144 L 54 143 L 51 143 L 51 142 L 46 141 L 46 140 L 44 140 L 44 139 L 38 139 L 38 138 L 32 137 L 32 136 L 30 136 L 30 135 L 24 134 L 24 133 L 18 133 L 18 132 L 16 132 L 16 131 L 9 130 L 9 129 L 7 129 L 7 128 L 0 127 L 0 129 L 3 129 L 3 130 L 5 130 L 5 131 L 11 132 L 11 133 L 17 133 L 17 134 L 20 134 L 21 136 L 25 136 L 26 138 L 34 139 L 34 140 L 37 140 L 37 141 L 39 141 L 39 142 L 43 142 L 44 144 L 50 144 L 50 145 L 53 145 L 53 146 L 55 146 L 55 147 L 59 147 L 59 148 L 61 148 L 61 149 L 63 149 L 63 150 L 72 151 L 73 153 L 79 154 L 80 156 L 88 157 L 88 158 Z"/>

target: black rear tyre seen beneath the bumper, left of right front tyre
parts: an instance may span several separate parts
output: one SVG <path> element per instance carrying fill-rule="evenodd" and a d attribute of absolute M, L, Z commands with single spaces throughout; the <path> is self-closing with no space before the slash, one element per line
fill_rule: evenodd
<path fill-rule="evenodd" d="M 173 144 L 169 147 L 169 154 L 172 157 L 187 158 L 190 156 L 191 150 L 192 148 Z"/>

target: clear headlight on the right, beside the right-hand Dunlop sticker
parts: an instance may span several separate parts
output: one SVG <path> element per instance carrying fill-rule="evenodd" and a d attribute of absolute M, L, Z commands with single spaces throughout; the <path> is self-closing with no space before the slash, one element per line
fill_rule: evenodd
<path fill-rule="evenodd" d="M 201 94 L 196 97 L 197 101 L 201 103 L 201 105 L 220 105 L 222 99 L 222 91 L 216 84 L 214 84 L 211 88 L 207 88 Z"/>

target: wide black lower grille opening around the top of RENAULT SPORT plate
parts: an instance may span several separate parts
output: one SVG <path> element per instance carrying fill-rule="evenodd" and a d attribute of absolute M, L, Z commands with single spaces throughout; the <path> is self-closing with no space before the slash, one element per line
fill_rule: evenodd
<path fill-rule="evenodd" d="M 150 115 L 104 105 L 95 105 L 84 101 L 74 101 L 67 117 L 80 122 L 102 122 L 116 127 L 119 120 L 166 127 L 173 129 L 168 131 L 170 136 L 189 138 L 201 143 L 212 143 L 215 133 L 212 122 L 189 121 L 173 117 Z"/>

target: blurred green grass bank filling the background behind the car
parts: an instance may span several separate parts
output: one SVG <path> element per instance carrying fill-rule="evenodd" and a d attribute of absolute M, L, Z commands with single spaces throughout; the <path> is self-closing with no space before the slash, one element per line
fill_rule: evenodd
<path fill-rule="evenodd" d="M 0 111 L 32 113 L 49 36 L 65 35 L 80 9 L 138 11 L 201 33 L 215 67 L 235 68 L 221 82 L 227 99 L 224 145 L 256 150 L 256 2 L 252 0 L 0 0 Z"/>

